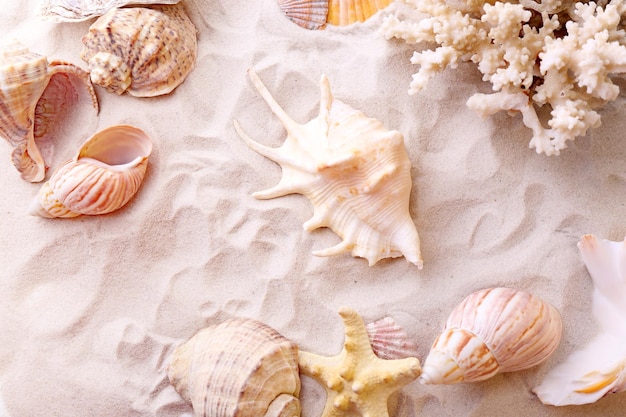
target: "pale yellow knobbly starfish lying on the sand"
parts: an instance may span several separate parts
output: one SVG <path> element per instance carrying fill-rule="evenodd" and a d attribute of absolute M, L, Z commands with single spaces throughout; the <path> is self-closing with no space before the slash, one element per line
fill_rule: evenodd
<path fill-rule="evenodd" d="M 346 333 L 342 351 L 331 357 L 300 351 L 298 356 L 300 372 L 326 389 L 322 417 L 344 417 L 355 411 L 362 417 L 389 417 L 389 396 L 420 375 L 419 360 L 380 359 L 361 316 L 346 307 L 339 315 Z"/>

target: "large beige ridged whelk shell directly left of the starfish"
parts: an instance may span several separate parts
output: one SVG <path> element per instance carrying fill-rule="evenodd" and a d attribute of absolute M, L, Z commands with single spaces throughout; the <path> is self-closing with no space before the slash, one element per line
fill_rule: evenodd
<path fill-rule="evenodd" d="M 168 377 L 195 417 L 300 415 L 298 347 L 256 320 L 199 331 L 173 353 Z"/>

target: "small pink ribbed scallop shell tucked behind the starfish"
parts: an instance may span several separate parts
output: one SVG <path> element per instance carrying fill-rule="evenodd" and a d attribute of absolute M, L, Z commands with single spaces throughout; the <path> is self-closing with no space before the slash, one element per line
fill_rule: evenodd
<path fill-rule="evenodd" d="M 372 350 L 381 359 L 404 359 L 419 356 L 417 344 L 391 317 L 365 326 Z"/>

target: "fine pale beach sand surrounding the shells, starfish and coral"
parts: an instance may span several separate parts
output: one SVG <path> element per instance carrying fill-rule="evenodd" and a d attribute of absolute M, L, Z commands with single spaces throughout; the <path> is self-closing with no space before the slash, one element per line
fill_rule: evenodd
<path fill-rule="evenodd" d="M 3 43 L 16 38 L 85 67 L 81 37 L 91 21 L 41 22 L 38 2 L 3 3 Z M 482 383 L 415 381 L 392 397 L 393 416 L 623 415 L 626 394 L 556 408 L 531 389 L 596 332 L 576 243 L 587 233 L 626 235 L 626 93 L 602 110 L 601 127 L 546 157 L 528 148 L 519 114 L 481 119 L 465 106 L 490 88 L 473 65 L 407 94 L 414 47 L 377 32 L 397 5 L 362 25 L 307 31 L 275 0 L 184 4 L 199 45 L 181 86 L 154 99 L 98 88 L 100 113 L 76 106 L 59 127 L 51 169 L 111 125 L 132 124 L 152 137 L 146 179 L 122 210 L 71 220 L 28 216 L 40 185 L 19 178 L 11 146 L 0 141 L 0 416 L 190 416 L 167 380 L 169 354 L 200 328 L 234 316 L 261 320 L 324 355 L 342 346 L 340 306 L 367 322 L 391 316 L 423 361 L 452 308 L 490 286 L 554 304 L 564 325 L 558 350 L 538 367 Z M 233 119 L 267 145 L 280 145 L 285 132 L 249 82 L 249 68 L 300 123 L 317 115 L 326 74 L 336 98 L 404 134 L 423 270 L 404 258 L 369 267 L 348 254 L 315 257 L 338 238 L 303 230 L 313 212 L 305 197 L 252 197 L 278 182 L 280 167 L 246 146 Z M 625 81 L 617 83 L 626 91 Z M 303 377 L 302 415 L 319 416 L 324 396 Z"/>

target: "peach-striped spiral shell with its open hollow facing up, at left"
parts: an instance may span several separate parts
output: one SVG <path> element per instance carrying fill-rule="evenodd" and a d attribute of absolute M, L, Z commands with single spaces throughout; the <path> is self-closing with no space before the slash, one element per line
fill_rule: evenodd
<path fill-rule="evenodd" d="M 106 214 L 124 206 L 139 190 L 152 151 L 140 129 L 104 129 L 59 167 L 43 185 L 30 213 L 42 217 Z"/>

